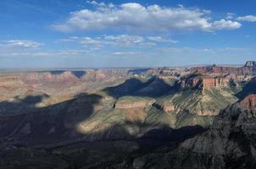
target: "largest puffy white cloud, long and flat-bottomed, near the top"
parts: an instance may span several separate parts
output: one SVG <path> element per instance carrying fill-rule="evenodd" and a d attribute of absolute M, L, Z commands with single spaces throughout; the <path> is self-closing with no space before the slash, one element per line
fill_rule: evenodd
<path fill-rule="evenodd" d="M 53 25 L 60 31 L 72 30 L 136 30 L 136 31 L 175 31 L 175 30 L 234 30 L 241 24 L 221 19 L 211 21 L 210 11 L 199 8 L 143 6 L 140 3 L 120 5 L 88 2 L 95 9 L 82 9 L 72 12 L 64 22 Z"/>

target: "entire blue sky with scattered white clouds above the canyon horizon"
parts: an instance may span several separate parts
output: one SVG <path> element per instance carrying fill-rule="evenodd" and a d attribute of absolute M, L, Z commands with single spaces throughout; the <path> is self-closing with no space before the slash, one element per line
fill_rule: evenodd
<path fill-rule="evenodd" d="M 1 0 L 0 68 L 256 60 L 255 0 Z"/>

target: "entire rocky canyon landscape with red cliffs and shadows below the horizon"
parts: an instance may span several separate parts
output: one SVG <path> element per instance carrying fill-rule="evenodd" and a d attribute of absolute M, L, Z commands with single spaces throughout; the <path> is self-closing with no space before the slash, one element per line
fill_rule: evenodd
<path fill-rule="evenodd" d="M 253 61 L 0 72 L 0 165 L 253 168 L 255 78 Z"/>

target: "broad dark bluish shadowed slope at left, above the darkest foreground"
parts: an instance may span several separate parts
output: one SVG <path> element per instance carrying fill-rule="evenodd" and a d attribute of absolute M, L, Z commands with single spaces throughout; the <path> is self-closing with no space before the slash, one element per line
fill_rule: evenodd
<path fill-rule="evenodd" d="M 24 144 L 75 139 L 81 136 L 76 129 L 76 124 L 86 120 L 95 112 L 94 106 L 101 98 L 100 95 L 82 94 L 70 101 L 39 108 L 32 112 L 0 117 L 1 137 L 8 139 L 8 142 Z"/>

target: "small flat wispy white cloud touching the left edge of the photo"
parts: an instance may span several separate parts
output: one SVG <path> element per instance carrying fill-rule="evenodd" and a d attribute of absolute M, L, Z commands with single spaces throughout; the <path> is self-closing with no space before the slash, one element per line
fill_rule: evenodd
<path fill-rule="evenodd" d="M 21 47 L 21 48 L 38 48 L 42 46 L 42 43 L 36 41 L 20 41 L 20 40 L 12 40 L 12 41 L 3 41 L 1 46 L 4 47 Z"/>

